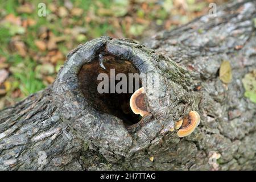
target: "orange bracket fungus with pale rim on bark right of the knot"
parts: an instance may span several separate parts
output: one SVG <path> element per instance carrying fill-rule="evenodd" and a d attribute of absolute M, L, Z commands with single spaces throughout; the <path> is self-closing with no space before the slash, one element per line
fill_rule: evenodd
<path fill-rule="evenodd" d="M 178 137 L 186 137 L 193 133 L 200 123 L 200 115 L 196 111 L 190 111 L 188 116 L 183 118 L 181 129 L 177 131 Z"/>

